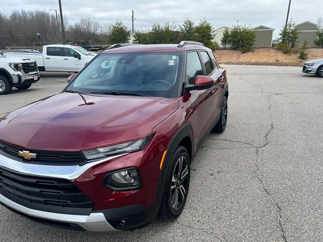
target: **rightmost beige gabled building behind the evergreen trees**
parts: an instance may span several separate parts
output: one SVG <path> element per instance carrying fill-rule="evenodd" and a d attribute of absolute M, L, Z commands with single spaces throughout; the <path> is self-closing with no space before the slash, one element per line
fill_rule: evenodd
<path fill-rule="evenodd" d="M 297 24 L 295 26 L 295 29 L 299 31 L 295 47 L 300 47 L 305 40 L 307 41 L 308 47 L 315 47 L 314 40 L 317 39 L 316 33 L 318 31 L 318 27 L 316 24 L 306 21 Z"/>

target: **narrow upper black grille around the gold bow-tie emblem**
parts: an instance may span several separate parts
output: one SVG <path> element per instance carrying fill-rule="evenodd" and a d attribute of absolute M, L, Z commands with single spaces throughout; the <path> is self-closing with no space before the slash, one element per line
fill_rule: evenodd
<path fill-rule="evenodd" d="M 19 156 L 19 151 L 24 149 L 4 142 L 0 142 L 0 153 L 13 158 L 17 161 L 28 162 L 31 164 L 44 164 L 44 165 L 82 165 L 86 163 L 85 157 L 78 151 L 43 151 L 43 150 L 28 150 L 30 153 L 36 153 L 36 158 L 25 160 Z"/>

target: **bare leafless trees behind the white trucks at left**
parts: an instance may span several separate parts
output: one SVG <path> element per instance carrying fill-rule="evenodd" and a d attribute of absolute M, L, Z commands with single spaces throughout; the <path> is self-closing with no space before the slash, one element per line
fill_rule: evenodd
<path fill-rule="evenodd" d="M 80 18 L 69 24 L 63 18 L 66 42 L 86 42 L 105 44 L 110 26 L 101 26 L 99 21 Z M 44 10 L 15 10 L 7 15 L 0 12 L 0 48 L 5 46 L 33 46 L 36 34 L 41 34 L 43 43 L 62 43 L 61 18 L 55 12 Z"/>

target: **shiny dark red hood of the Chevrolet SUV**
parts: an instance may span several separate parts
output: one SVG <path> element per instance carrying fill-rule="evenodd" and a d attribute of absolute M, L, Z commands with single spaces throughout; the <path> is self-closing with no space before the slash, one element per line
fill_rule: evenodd
<path fill-rule="evenodd" d="M 0 140 L 31 150 L 76 151 L 151 134 L 178 108 L 176 98 L 60 93 L 0 121 Z"/>

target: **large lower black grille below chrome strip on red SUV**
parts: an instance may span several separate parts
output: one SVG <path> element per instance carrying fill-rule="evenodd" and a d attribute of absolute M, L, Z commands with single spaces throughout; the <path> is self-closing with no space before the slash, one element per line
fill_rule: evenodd
<path fill-rule="evenodd" d="M 72 181 L 22 174 L 0 167 L 0 194 L 24 207 L 63 214 L 89 215 L 93 202 Z"/>

